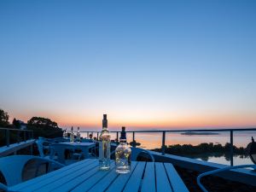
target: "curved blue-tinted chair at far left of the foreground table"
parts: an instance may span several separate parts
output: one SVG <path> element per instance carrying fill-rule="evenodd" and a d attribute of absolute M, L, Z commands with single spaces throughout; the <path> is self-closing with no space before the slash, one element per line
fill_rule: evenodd
<path fill-rule="evenodd" d="M 55 160 L 47 160 L 32 155 L 12 155 L 0 158 L 0 172 L 2 172 L 8 186 L 13 186 L 22 182 L 22 172 L 24 171 L 24 167 L 31 160 L 36 162 L 37 170 L 35 172 L 35 177 L 38 176 L 38 167 L 41 165 L 49 164 L 47 172 L 64 166 Z M 8 187 L 3 183 L 0 183 L 0 189 L 8 191 Z"/>

